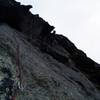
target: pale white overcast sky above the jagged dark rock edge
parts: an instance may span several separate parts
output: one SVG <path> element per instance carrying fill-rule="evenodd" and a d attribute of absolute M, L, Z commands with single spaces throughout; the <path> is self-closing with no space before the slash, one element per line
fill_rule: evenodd
<path fill-rule="evenodd" d="M 17 0 L 100 63 L 100 0 Z"/>

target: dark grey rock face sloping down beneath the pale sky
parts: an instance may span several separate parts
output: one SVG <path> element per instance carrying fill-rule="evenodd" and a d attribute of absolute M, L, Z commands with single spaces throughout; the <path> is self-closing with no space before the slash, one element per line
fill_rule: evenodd
<path fill-rule="evenodd" d="M 0 0 L 0 100 L 100 100 L 100 65 L 30 8 Z"/>

